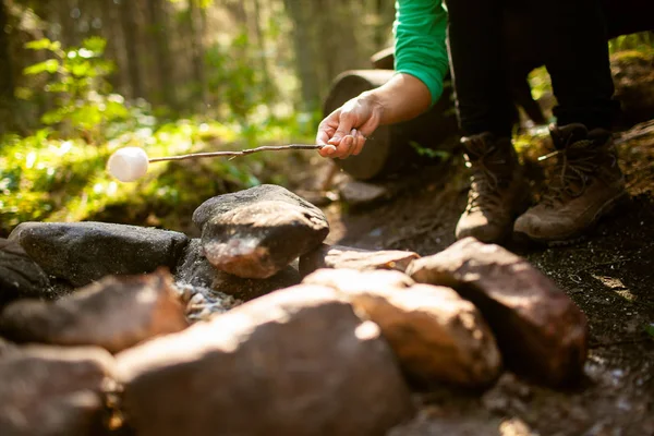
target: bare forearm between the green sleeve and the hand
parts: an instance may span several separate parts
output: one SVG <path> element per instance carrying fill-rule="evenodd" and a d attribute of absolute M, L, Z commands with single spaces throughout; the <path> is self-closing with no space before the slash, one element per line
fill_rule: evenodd
<path fill-rule="evenodd" d="M 380 109 L 380 124 L 393 124 L 411 120 L 432 104 L 427 86 L 411 74 L 396 74 L 378 88 L 363 93 L 361 98 L 368 99 Z"/>

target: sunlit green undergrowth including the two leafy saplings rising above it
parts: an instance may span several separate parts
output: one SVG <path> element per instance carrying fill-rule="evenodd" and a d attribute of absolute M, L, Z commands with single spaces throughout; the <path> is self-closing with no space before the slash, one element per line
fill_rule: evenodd
<path fill-rule="evenodd" d="M 31 220 L 186 230 L 206 198 L 262 182 L 284 183 L 288 173 L 289 153 L 270 153 L 155 164 L 136 183 L 120 183 L 106 171 L 120 147 L 140 146 L 154 157 L 313 141 L 319 112 L 279 117 L 268 109 L 274 86 L 258 68 L 264 55 L 252 49 L 245 32 L 207 53 L 209 97 L 220 104 L 225 122 L 162 123 L 148 102 L 112 94 L 107 78 L 114 68 L 104 59 L 105 45 L 101 38 L 69 48 L 49 39 L 25 45 L 45 50 L 48 59 L 24 69 L 31 85 L 16 96 L 55 105 L 32 134 L 0 137 L 0 235 Z"/>

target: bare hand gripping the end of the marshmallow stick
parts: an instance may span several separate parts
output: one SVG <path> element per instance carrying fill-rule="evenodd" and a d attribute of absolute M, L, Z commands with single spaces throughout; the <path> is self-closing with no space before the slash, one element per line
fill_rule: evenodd
<path fill-rule="evenodd" d="M 366 136 L 379 126 L 383 112 L 384 107 L 370 93 L 352 98 L 320 122 L 316 144 L 324 147 L 318 153 L 341 159 L 359 155 Z"/>

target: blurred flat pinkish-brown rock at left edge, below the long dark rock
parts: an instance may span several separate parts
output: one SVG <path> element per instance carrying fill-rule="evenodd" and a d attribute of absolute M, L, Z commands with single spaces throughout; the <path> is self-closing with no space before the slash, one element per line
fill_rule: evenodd
<path fill-rule="evenodd" d="M 112 353 L 189 324 L 170 276 L 107 277 L 56 302 L 19 301 L 0 316 L 15 342 L 98 346 Z"/>

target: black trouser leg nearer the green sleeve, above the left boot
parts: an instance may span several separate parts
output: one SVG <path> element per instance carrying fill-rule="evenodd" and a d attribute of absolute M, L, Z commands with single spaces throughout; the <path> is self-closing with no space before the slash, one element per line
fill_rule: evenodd
<path fill-rule="evenodd" d="M 447 0 L 457 108 L 465 135 L 510 136 L 516 108 L 507 86 L 502 1 Z"/>

